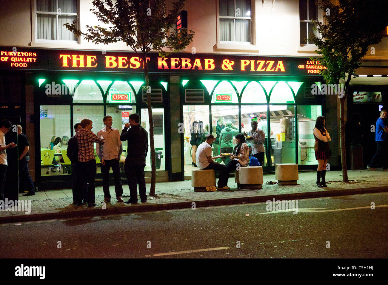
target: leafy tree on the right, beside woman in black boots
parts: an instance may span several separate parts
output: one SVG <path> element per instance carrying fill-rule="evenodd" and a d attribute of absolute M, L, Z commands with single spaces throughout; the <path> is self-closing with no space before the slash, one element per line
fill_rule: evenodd
<path fill-rule="evenodd" d="M 388 5 L 386 0 L 339 0 L 334 5 L 331 0 L 318 0 L 323 10 L 326 24 L 313 21 L 318 35 L 310 33 L 309 41 L 314 41 L 321 58 L 315 59 L 326 69 L 320 74 L 326 83 L 339 86 L 343 79 L 345 92 L 340 97 L 340 146 L 342 181 L 349 182 L 346 166 L 345 149 L 345 98 L 352 74 L 361 66 L 361 59 L 366 55 L 371 45 L 379 43 L 383 37 L 382 31 L 388 24 Z M 374 54 L 374 48 L 371 48 Z M 346 75 L 347 74 L 347 75 Z M 336 93 L 336 92 L 335 92 Z"/>

